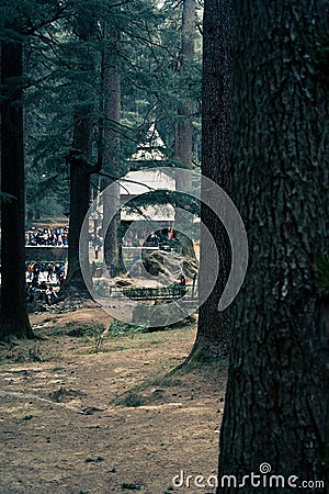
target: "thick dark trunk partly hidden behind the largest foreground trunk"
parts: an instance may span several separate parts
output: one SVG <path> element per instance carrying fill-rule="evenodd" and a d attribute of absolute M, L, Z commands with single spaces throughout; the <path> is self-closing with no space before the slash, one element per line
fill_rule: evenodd
<path fill-rule="evenodd" d="M 228 150 L 231 93 L 231 4 L 206 2 L 204 15 L 202 173 L 224 190 L 228 188 Z M 202 198 L 208 192 L 202 183 Z M 202 204 L 201 259 L 198 284 L 208 284 L 209 245 L 203 228 L 212 234 L 219 256 L 218 278 L 211 296 L 200 307 L 197 336 L 189 359 L 226 357 L 229 340 L 227 312 L 218 312 L 230 266 L 230 247 L 223 224 Z M 215 267 L 214 267 L 215 268 Z"/>

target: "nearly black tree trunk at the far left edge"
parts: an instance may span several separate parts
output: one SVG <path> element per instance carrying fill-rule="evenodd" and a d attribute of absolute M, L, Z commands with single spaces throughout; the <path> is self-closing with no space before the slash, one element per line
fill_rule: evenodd
<path fill-rule="evenodd" d="M 1 204 L 0 339 L 32 338 L 25 287 L 25 183 L 20 42 L 1 43 L 1 186 L 11 194 Z"/>

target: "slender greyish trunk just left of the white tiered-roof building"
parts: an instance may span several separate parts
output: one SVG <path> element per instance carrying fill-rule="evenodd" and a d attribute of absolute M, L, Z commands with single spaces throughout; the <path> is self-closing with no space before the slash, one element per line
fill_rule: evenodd
<path fill-rule="evenodd" d="M 105 26 L 106 31 L 106 26 Z M 117 125 L 121 122 L 121 74 L 117 60 L 120 49 L 118 33 L 107 35 L 105 53 L 103 57 L 103 93 L 104 93 L 104 143 L 103 143 L 103 162 L 104 171 L 114 177 L 121 176 L 120 165 L 120 138 Z M 113 180 L 104 177 L 103 188 L 111 186 Z M 115 214 L 114 214 L 115 213 Z M 113 216 L 114 214 L 114 216 Z M 121 231 L 121 194 L 120 186 L 111 188 L 109 194 L 103 194 L 103 215 L 113 216 L 113 220 L 104 237 L 104 257 L 106 266 L 114 265 L 115 272 L 124 270 L 122 257 L 122 231 Z"/>

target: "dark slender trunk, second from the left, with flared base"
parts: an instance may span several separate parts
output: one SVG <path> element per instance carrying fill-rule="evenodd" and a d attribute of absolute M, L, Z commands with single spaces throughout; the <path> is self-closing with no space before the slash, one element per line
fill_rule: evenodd
<path fill-rule="evenodd" d="M 92 92 L 91 75 L 94 69 L 93 53 L 88 48 L 95 34 L 94 19 L 89 18 L 88 11 L 79 12 L 76 25 L 76 34 L 80 38 L 81 47 L 87 46 L 88 59 L 82 59 L 86 49 L 81 53 L 80 74 L 81 87 L 77 90 L 77 106 L 73 115 L 73 141 L 68 161 L 70 166 L 70 216 L 69 216 L 69 247 L 68 247 L 68 273 L 60 289 L 60 295 L 83 294 L 89 296 L 81 266 L 80 252 L 83 252 L 82 266 L 87 284 L 91 284 L 91 276 L 88 262 L 88 232 L 84 232 L 80 245 L 80 233 L 84 216 L 90 205 L 90 176 L 98 171 L 98 165 L 92 166 L 92 139 L 94 122 L 94 104 L 87 98 L 82 90 L 87 85 Z M 79 81 L 80 82 L 80 81 Z"/>

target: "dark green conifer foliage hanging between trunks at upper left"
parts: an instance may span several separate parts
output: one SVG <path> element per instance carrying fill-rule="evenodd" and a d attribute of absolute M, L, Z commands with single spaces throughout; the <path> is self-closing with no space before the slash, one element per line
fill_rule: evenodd
<path fill-rule="evenodd" d="M 94 109 L 93 164 L 102 130 L 111 128 L 120 141 L 115 159 L 122 175 L 140 166 L 128 158 L 147 139 L 151 123 L 164 141 L 168 164 L 181 166 L 172 158 L 174 126 L 182 119 L 177 109 L 185 101 L 195 109 L 194 139 L 198 146 L 201 35 L 195 31 L 196 59 L 183 60 L 181 74 L 181 8 L 156 0 L 2 3 L 0 38 L 20 37 L 26 47 L 22 83 L 29 213 L 57 216 L 69 211 L 67 157 L 79 105 Z M 198 13 L 198 24 L 200 19 Z M 81 40 L 82 32 L 89 33 L 88 38 Z M 107 32 L 120 32 L 118 43 L 113 44 L 122 80 L 120 124 L 104 120 L 102 103 L 101 59 L 107 44 L 113 43 Z M 158 162 L 147 164 L 151 166 Z"/>

